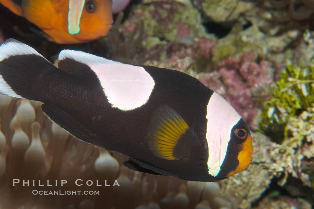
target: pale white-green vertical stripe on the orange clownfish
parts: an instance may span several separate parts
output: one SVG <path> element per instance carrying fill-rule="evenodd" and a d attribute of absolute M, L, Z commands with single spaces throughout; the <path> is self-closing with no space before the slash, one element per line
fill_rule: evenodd
<path fill-rule="evenodd" d="M 79 24 L 83 13 L 85 0 L 70 0 L 68 12 L 68 32 L 71 35 L 78 34 Z"/>

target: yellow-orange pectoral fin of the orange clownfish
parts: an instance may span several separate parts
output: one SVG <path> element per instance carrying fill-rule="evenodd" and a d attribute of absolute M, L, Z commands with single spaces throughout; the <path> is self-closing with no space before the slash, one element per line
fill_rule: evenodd
<path fill-rule="evenodd" d="M 24 16 L 31 23 L 41 29 L 52 29 L 51 19 L 54 19 L 55 10 L 50 0 L 23 0 Z"/>

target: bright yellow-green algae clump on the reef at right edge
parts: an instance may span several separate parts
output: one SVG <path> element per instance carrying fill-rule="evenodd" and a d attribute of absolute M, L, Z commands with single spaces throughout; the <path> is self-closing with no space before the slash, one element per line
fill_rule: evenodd
<path fill-rule="evenodd" d="M 288 60 L 281 79 L 272 87 L 273 97 L 262 112 L 260 131 L 281 144 L 284 137 L 291 135 L 287 129 L 289 119 L 297 118 L 304 111 L 311 113 L 314 107 L 314 60 L 306 67 L 293 65 Z"/>

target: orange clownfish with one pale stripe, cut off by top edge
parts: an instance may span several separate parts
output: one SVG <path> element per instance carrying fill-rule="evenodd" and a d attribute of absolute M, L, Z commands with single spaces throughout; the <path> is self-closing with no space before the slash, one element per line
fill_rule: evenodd
<path fill-rule="evenodd" d="M 113 23 L 112 0 L 0 0 L 37 25 L 48 40 L 81 43 L 106 36 Z"/>

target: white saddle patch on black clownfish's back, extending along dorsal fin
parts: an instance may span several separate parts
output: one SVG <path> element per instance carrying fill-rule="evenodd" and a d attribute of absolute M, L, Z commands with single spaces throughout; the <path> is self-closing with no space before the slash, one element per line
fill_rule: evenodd
<path fill-rule="evenodd" d="M 154 80 L 143 67 L 73 50 L 62 50 L 59 60 L 65 58 L 85 63 L 95 72 L 112 107 L 125 111 L 141 107 L 153 91 Z"/>

